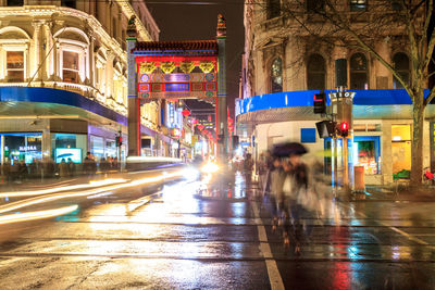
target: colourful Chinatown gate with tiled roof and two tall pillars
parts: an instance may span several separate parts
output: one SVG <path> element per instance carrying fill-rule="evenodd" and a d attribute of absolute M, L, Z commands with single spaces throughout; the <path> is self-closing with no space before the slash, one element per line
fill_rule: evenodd
<path fill-rule="evenodd" d="M 216 106 L 217 156 L 228 147 L 226 117 L 225 20 L 217 16 L 216 40 L 136 39 L 135 18 L 127 28 L 128 155 L 140 155 L 140 104 L 199 99 Z"/>

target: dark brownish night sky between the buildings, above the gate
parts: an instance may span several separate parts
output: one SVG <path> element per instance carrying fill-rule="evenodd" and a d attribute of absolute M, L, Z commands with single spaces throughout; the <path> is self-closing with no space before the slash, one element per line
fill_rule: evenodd
<path fill-rule="evenodd" d="M 150 0 L 147 7 L 160 28 L 160 40 L 215 39 L 217 14 L 226 18 L 227 104 L 234 116 L 234 99 L 244 52 L 244 0 Z"/>

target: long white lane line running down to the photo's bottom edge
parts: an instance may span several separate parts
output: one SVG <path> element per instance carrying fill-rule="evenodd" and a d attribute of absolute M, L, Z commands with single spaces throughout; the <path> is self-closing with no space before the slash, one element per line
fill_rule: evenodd
<path fill-rule="evenodd" d="M 269 245 L 268 241 L 268 235 L 265 234 L 265 228 L 262 225 L 261 218 L 260 218 L 260 212 L 257 206 L 256 202 L 251 202 L 252 211 L 256 217 L 256 224 L 257 224 L 257 230 L 259 234 L 259 240 L 260 240 L 260 251 L 261 254 L 263 255 L 265 261 L 265 266 L 268 268 L 268 275 L 269 275 L 269 281 L 271 283 L 271 289 L 272 290 L 284 290 L 284 283 L 283 283 L 283 278 L 281 277 L 278 266 L 276 265 L 276 261 L 272 260 L 272 251 L 271 247 Z"/>

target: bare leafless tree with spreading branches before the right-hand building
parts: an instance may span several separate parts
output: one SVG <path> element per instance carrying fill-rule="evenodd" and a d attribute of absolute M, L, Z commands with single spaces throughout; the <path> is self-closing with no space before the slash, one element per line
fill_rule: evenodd
<path fill-rule="evenodd" d="M 275 2 L 256 0 L 254 4 L 268 11 Z M 277 18 L 284 25 L 282 31 L 304 37 L 312 43 L 369 53 L 401 84 L 413 106 L 411 184 L 421 185 L 424 113 L 435 97 L 434 89 L 425 96 L 435 46 L 432 34 L 434 3 L 433 0 L 372 0 L 368 5 L 368 2 L 282 0 Z M 382 41 L 391 41 L 407 51 L 410 58 L 409 77 L 401 74 L 393 61 L 378 53 L 376 45 Z"/>

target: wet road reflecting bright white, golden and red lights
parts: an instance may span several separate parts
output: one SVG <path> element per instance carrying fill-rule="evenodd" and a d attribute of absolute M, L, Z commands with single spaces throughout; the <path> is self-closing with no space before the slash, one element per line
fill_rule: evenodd
<path fill-rule="evenodd" d="M 142 197 L 101 196 L 26 224 L 0 244 L 0 288 L 435 288 L 432 202 L 348 202 L 322 220 L 307 214 L 312 234 L 297 255 L 272 231 L 256 191 L 227 200 L 197 189 L 178 181 Z"/>

